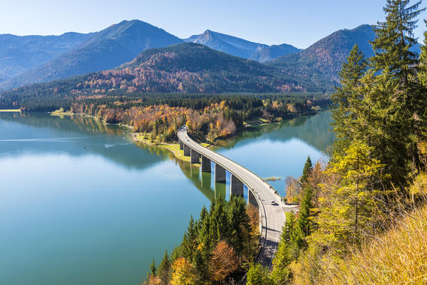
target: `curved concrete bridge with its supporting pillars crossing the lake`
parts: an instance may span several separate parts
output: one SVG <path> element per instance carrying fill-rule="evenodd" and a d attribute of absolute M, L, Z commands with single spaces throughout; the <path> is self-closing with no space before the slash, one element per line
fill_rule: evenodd
<path fill-rule="evenodd" d="M 187 135 L 185 128 L 178 131 L 178 139 L 184 155 L 190 156 L 191 163 L 200 163 L 202 172 L 211 172 L 211 162 L 215 163 L 215 182 L 225 183 L 225 170 L 231 173 L 231 196 L 243 197 L 244 185 L 246 185 L 248 203 L 254 204 L 259 209 L 262 249 L 257 257 L 257 262 L 263 266 L 272 266 L 272 259 L 277 251 L 285 219 L 285 205 L 279 195 L 275 194 L 274 189 L 267 182 L 247 168 L 199 145 Z M 276 204 L 272 204 L 272 201 L 275 201 Z"/>

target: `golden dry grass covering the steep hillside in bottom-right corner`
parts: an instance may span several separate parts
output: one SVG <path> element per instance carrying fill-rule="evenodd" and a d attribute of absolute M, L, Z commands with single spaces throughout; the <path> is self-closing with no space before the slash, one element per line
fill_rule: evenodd
<path fill-rule="evenodd" d="M 411 194 L 425 197 L 427 176 L 418 175 Z M 412 195 L 412 197 L 413 197 Z M 427 206 L 395 218 L 384 234 L 371 237 L 346 259 L 324 257 L 317 284 L 427 284 Z"/>

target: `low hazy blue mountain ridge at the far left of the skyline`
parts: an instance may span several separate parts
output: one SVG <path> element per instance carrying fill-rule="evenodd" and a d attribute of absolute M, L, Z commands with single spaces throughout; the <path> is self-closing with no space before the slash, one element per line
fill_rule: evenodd
<path fill-rule="evenodd" d="M 61 36 L 0 35 L 0 81 L 46 63 L 71 50 L 93 33 L 64 33 Z"/>

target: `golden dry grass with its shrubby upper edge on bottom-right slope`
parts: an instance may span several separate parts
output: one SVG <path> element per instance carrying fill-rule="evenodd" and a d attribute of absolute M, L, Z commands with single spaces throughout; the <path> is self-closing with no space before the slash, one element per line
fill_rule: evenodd
<path fill-rule="evenodd" d="M 409 197 L 395 201 L 395 214 L 382 234 L 366 236 L 346 255 L 312 245 L 291 264 L 293 284 L 427 284 L 427 175 L 421 173 Z"/>

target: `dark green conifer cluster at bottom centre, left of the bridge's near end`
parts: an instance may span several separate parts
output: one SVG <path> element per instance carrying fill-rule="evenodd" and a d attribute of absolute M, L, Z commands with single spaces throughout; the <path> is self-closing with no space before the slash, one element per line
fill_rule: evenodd
<path fill-rule="evenodd" d="M 259 221 L 257 217 L 253 219 L 256 221 L 249 218 L 247 205 L 241 197 L 231 197 L 230 202 L 226 202 L 222 197 L 212 199 L 210 210 L 202 207 L 198 221 L 190 217 L 182 242 L 174 249 L 170 259 L 165 253 L 158 269 L 158 277 L 162 282 L 170 279 L 173 263 L 180 259 L 178 262 L 180 266 L 177 267 L 180 268 L 185 265 L 182 261 L 184 258 L 192 266 L 192 274 L 197 284 L 209 283 L 212 277 L 211 261 L 215 256 L 212 253 L 221 242 L 230 245 L 229 250 L 234 252 L 235 259 L 238 260 L 238 264 L 233 266 L 241 270 L 243 264 L 253 260 L 257 251 L 258 237 L 252 234 L 256 229 L 252 229 L 251 224 L 259 227 Z M 217 252 L 218 258 L 222 258 L 222 255 L 223 253 Z"/>

